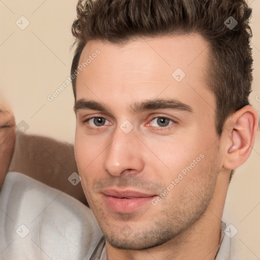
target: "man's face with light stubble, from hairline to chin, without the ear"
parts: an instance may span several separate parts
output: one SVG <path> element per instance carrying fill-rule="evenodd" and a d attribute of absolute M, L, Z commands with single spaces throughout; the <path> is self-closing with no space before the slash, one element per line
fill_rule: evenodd
<path fill-rule="evenodd" d="M 91 62 L 77 76 L 75 156 L 116 248 L 163 244 L 207 210 L 220 171 L 208 55 L 197 34 L 90 41 L 81 54 Z"/>

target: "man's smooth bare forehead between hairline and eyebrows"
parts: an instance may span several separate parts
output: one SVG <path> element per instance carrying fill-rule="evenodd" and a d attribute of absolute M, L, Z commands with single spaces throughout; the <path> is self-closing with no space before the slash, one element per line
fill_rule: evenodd
<path fill-rule="evenodd" d="M 116 109 L 116 104 L 174 98 L 194 110 L 214 110 L 205 77 L 208 59 L 208 43 L 198 34 L 140 38 L 123 45 L 90 41 L 79 60 L 85 66 L 77 77 L 77 100 L 99 100 Z"/>

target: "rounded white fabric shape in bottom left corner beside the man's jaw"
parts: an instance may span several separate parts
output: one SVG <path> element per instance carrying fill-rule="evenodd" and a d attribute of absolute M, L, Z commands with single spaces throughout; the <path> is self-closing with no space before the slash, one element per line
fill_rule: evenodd
<path fill-rule="evenodd" d="M 88 207 L 20 173 L 7 174 L 0 208 L 1 259 L 82 259 L 102 237 Z"/>

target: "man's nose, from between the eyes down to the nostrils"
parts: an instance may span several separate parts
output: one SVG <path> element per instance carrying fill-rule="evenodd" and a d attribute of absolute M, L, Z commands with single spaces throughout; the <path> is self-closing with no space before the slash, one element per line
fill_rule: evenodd
<path fill-rule="evenodd" d="M 112 176 L 137 174 L 144 168 L 142 142 L 135 135 L 135 128 L 128 134 L 118 126 L 106 149 L 104 169 Z"/>

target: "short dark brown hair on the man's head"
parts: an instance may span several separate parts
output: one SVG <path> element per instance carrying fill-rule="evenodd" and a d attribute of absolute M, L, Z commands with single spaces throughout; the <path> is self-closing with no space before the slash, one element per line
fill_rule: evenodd
<path fill-rule="evenodd" d="M 249 104 L 251 12 L 245 0 L 79 0 L 72 25 L 77 48 L 71 74 L 90 40 L 123 44 L 138 37 L 198 32 L 209 43 L 206 77 L 216 99 L 215 127 L 220 137 L 225 120 Z M 237 21 L 232 29 L 224 23 L 231 16 Z M 72 85 L 76 99 L 76 78 Z"/>

